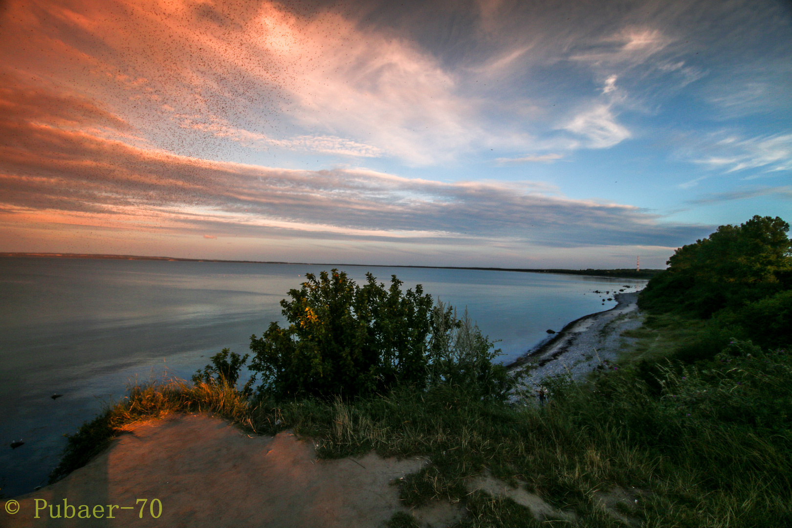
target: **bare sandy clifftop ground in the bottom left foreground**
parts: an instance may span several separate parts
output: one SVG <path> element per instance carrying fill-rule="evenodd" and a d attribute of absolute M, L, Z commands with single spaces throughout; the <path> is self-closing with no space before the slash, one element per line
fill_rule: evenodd
<path fill-rule="evenodd" d="M 390 482 L 424 463 L 375 454 L 322 461 L 310 440 L 289 433 L 250 438 L 211 416 L 170 416 L 138 424 L 62 481 L 16 497 L 20 510 L 0 510 L 0 526 L 383 526 L 395 511 L 406 511 Z M 50 519 L 47 507 L 35 519 L 36 499 L 61 510 L 64 499 L 84 504 L 83 515 L 92 518 L 69 510 L 77 515 L 64 519 L 63 510 L 60 519 Z M 138 499 L 149 500 L 142 519 Z M 158 519 L 151 516 L 154 499 L 162 503 Z M 113 508 L 108 519 L 108 504 L 132 508 Z M 104 518 L 93 517 L 95 505 L 104 506 Z"/>

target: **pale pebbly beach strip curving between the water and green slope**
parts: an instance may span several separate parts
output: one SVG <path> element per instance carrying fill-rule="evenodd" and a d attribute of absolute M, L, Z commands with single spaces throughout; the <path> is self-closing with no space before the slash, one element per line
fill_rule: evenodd
<path fill-rule="evenodd" d="M 509 363 L 508 372 L 528 370 L 524 387 L 539 389 L 545 378 L 569 374 L 581 379 L 594 370 L 611 368 L 630 340 L 621 333 L 642 325 L 638 292 L 615 294 L 615 300 L 610 310 L 589 313 L 565 325 L 550 340 Z"/>

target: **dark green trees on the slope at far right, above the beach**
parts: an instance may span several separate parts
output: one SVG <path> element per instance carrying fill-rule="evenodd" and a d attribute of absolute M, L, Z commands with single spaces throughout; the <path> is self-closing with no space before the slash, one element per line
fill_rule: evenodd
<path fill-rule="evenodd" d="M 718 227 L 676 250 L 668 270 L 642 291 L 640 306 L 710 319 L 713 350 L 732 336 L 770 347 L 792 344 L 789 230 L 779 217 L 758 215 L 739 226 Z"/>

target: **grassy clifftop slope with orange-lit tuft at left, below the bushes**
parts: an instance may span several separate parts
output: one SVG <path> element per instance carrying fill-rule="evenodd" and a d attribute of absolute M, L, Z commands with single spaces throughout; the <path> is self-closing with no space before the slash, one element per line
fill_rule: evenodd
<path fill-rule="evenodd" d="M 702 332 L 691 321 L 650 322 L 635 331 L 644 359 L 667 355 Z M 322 439 L 319 454 L 326 458 L 369 450 L 428 456 L 425 469 L 400 483 L 402 499 L 463 501 L 471 512 L 463 526 L 539 526 L 511 500 L 467 495 L 466 477 L 483 469 L 527 482 L 555 506 L 576 511 L 577 526 L 623 526 L 596 506 L 595 492 L 614 486 L 646 492 L 628 512 L 644 526 L 792 523 L 792 435 L 779 419 L 792 401 L 792 362 L 786 353 L 740 346 L 710 370 L 658 367 L 657 386 L 635 375 L 640 363 L 604 374 L 594 392 L 559 382 L 543 408 L 473 401 L 453 388 L 353 402 L 253 403 L 216 384 L 135 387 L 70 438 L 53 476 L 87 462 L 123 424 L 208 410 L 249 431 L 292 429 Z M 775 404 L 767 405 L 771 399 Z M 394 526 L 400 522 L 406 520 L 394 518 Z"/>

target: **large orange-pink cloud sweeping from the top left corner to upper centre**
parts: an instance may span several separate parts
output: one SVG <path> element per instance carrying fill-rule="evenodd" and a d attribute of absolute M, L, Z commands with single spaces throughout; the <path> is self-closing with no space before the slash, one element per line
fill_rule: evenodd
<path fill-rule="evenodd" d="M 0 41 L 6 65 L 74 84 L 151 127 L 151 137 L 173 112 L 207 125 L 217 116 L 238 135 L 264 135 L 272 144 L 295 142 L 279 128 L 309 126 L 317 140 L 303 141 L 303 149 L 425 165 L 449 159 L 482 133 L 470 101 L 455 94 L 455 78 L 432 55 L 332 9 L 307 15 L 276 2 L 36 3 L 10 5 Z M 174 142 L 191 141 L 177 133 L 183 136 Z M 341 146 L 328 148 L 329 140 Z M 191 147 L 200 150 L 181 150 Z"/>

